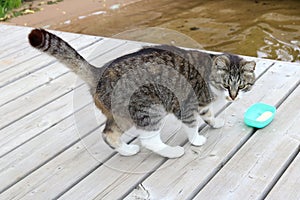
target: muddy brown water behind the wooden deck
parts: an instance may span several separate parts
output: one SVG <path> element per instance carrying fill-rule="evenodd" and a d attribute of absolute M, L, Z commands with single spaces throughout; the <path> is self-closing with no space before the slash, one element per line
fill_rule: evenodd
<path fill-rule="evenodd" d="M 300 0 L 143 0 L 54 28 L 300 62 Z"/>

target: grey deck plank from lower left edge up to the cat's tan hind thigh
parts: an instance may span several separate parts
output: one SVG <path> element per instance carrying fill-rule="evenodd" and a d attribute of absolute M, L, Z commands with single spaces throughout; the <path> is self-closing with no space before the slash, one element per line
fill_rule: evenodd
<path fill-rule="evenodd" d="M 87 135 L 97 126 L 97 121 L 86 117 L 93 112 L 93 108 L 94 106 L 87 106 L 79 111 L 78 117 L 81 117 L 81 123 L 85 124 L 85 126 L 80 127 L 80 131 L 84 135 Z M 20 146 L 17 150 L 2 157 L 0 160 L 0 193 L 80 141 L 80 137 L 76 133 L 78 128 L 76 122 L 74 116 L 70 116 L 30 142 Z M 50 176 L 51 174 L 46 175 Z"/>

